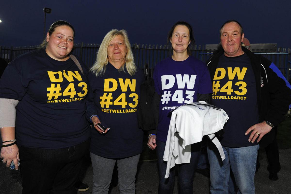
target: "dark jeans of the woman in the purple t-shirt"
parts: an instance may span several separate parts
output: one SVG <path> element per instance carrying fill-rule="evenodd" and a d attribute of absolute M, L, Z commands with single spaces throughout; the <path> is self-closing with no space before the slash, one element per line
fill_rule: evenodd
<path fill-rule="evenodd" d="M 175 168 L 170 169 L 170 175 L 166 179 L 167 162 L 164 161 L 164 151 L 166 143 L 157 140 L 157 159 L 159 166 L 159 194 L 173 193 L 173 186 L 175 180 Z M 193 194 L 193 178 L 194 172 L 198 163 L 200 155 L 201 142 L 191 145 L 191 159 L 190 163 L 176 164 L 178 165 L 178 183 L 179 194 Z M 175 166 L 176 166 L 175 165 Z"/>

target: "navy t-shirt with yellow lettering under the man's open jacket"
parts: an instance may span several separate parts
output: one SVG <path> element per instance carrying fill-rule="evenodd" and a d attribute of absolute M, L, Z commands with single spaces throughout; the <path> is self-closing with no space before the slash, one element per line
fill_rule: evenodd
<path fill-rule="evenodd" d="M 226 147 L 257 145 L 248 141 L 246 130 L 259 122 L 255 75 L 251 60 L 243 54 L 237 57 L 222 55 L 212 82 L 212 104 L 229 116 L 224 134 L 219 139 Z"/>

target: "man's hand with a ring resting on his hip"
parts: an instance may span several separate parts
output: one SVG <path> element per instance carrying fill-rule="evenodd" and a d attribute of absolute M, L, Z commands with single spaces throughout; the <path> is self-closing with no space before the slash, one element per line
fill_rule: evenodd
<path fill-rule="evenodd" d="M 269 133 L 271 131 L 271 129 L 272 129 L 272 127 L 267 125 L 266 121 L 263 121 L 263 122 L 260 122 L 258 124 L 251 126 L 246 131 L 245 135 L 247 135 L 251 131 L 253 131 L 249 137 L 249 141 L 251 141 L 251 143 L 254 143 L 255 140 L 258 138 L 257 143 L 259 143 L 259 141 L 262 139 L 262 137 L 264 137 L 264 135 Z"/>

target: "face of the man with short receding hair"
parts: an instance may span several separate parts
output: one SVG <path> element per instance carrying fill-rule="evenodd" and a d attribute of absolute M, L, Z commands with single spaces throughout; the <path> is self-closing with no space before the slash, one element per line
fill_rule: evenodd
<path fill-rule="evenodd" d="M 235 57 L 244 54 L 242 41 L 244 33 L 240 33 L 240 26 L 235 22 L 225 24 L 221 29 L 220 42 L 225 56 Z"/>

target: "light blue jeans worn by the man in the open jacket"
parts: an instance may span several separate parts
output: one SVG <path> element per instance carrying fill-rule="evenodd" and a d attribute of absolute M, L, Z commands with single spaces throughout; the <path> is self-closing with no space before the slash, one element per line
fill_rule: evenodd
<path fill-rule="evenodd" d="M 233 184 L 229 185 L 230 168 L 233 172 L 237 193 L 255 193 L 255 168 L 259 145 L 248 147 L 223 147 L 225 159 L 221 161 L 219 152 L 213 143 L 207 147 L 210 163 L 210 193 L 226 194 L 234 191 Z"/>

